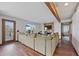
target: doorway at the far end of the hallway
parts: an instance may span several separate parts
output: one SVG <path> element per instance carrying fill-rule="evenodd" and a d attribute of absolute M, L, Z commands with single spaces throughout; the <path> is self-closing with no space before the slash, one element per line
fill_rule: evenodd
<path fill-rule="evenodd" d="M 64 43 L 71 43 L 71 23 L 72 22 L 61 23 L 61 39 Z"/>

